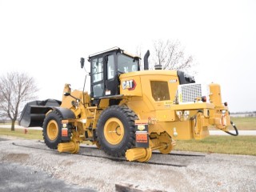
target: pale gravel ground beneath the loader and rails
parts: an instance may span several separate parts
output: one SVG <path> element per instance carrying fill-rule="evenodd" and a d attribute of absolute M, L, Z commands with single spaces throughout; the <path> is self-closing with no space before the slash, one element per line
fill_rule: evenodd
<path fill-rule="evenodd" d="M 14 146 L 13 142 L 41 150 Z M 82 148 L 80 154 L 106 156 L 102 150 L 90 148 Z M 60 185 L 66 184 L 67 189 L 70 189 L 67 191 L 114 191 L 115 184 L 122 183 L 133 184 L 145 191 L 256 191 L 255 156 L 174 151 L 170 155 L 153 154 L 150 162 L 168 162 L 176 166 L 116 162 L 106 158 L 60 154 L 49 150 L 38 140 L 6 138 L 0 135 L 0 172 L 4 173 L 0 177 L 1 187 L 2 183 L 6 185 L 12 182 L 13 178 L 7 170 L 18 173 L 21 172 L 19 166 L 22 166 L 29 173 L 44 175 L 45 178 L 33 177 L 41 181 L 40 191 L 51 190 L 47 188 L 47 179 L 57 181 Z M 6 165 L 10 165 L 10 168 L 7 169 Z M 29 173 L 25 172 L 22 177 L 27 178 L 23 182 L 30 186 Z"/>

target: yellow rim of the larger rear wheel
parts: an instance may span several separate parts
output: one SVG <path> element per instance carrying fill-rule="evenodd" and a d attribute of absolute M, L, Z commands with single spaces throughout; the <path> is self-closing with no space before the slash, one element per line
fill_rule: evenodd
<path fill-rule="evenodd" d="M 110 118 L 104 126 L 104 136 L 106 141 L 112 145 L 117 145 L 122 141 L 125 129 L 118 118 Z"/>

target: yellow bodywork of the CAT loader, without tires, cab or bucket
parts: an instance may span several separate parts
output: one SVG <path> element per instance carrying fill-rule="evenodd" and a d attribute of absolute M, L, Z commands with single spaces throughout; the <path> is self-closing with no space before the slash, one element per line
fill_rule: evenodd
<path fill-rule="evenodd" d="M 128 82 L 131 80 L 136 83 L 134 89 L 130 89 Z M 157 85 L 154 86 L 154 83 Z M 146 70 L 122 74 L 120 85 L 126 86 L 120 86 L 122 100 L 119 105 L 128 106 L 137 114 L 139 120 L 135 123 L 143 122 L 142 124 L 148 125 L 146 134 L 150 140 L 150 147 L 147 149 L 137 147 L 127 150 L 126 158 L 129 161 L 148 161 L 151 157 L 151 150 L 169 153 L 175 146 L 174 140 L 205 138 L 209 135 L 209 126 L 216 126 L 220 130 L 228 130 L 230 126 L 228 108 L 222 105 L 218 84 L 209 85 L 210 101 L 195 101 L 187 104 L 175 102 L 179 81 L 177 72 L 174 70 Z M 166 85 L 168 90 L 165 90 Z M 70 91 L 69 89 L 70 87 L 66 85 L 63 92 L 66 93 Z M 169 96 L 164 91 L 168 92 Z M 93 137 L 93 131 L 97 129 L 98 116 L 108 107 L 109 98 L 103 98 L 96 107 L 89 105 L 89 94 L 78 90 L 74 90 L 71 94 L 80 101 L 84 100 L 85 105 L 79 102 L 78 106 L 72 106 L 71 103 L 75 99 L 63 96 L 62 107 L 74 111 L 76 118 L 62 122 L 74 123 L 79 133 L 76 140 L 83 142 L 86 140 L 86 135 L 87 138 Z M 70 151 L 70 147 L 65 148 L 63 144 L 59 145 L 59 151 Z M 73 142 L 65 145 L 74 148 Z"/>

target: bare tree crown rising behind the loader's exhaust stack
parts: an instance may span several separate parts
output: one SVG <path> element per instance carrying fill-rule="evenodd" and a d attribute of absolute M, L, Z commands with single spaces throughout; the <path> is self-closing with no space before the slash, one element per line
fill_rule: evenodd
<path fill-rule="evenodd" d="M 170 40 L 154 41 L 154 65 L 161 65 L 163 70 L 189 70 L 193 64 L 193 57 L 185 56 L 180 42 Z"/>

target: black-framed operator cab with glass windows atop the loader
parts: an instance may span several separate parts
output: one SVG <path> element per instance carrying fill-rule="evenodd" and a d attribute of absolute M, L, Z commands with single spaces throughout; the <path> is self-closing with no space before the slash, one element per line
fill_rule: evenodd
<path fill-rule="evenodd" d="M 118 47 L 90 55 L 90 97 L 94 104 L 102 97 L 120 94 L 119 75 L 140 70 L 139 59 Z"/>

